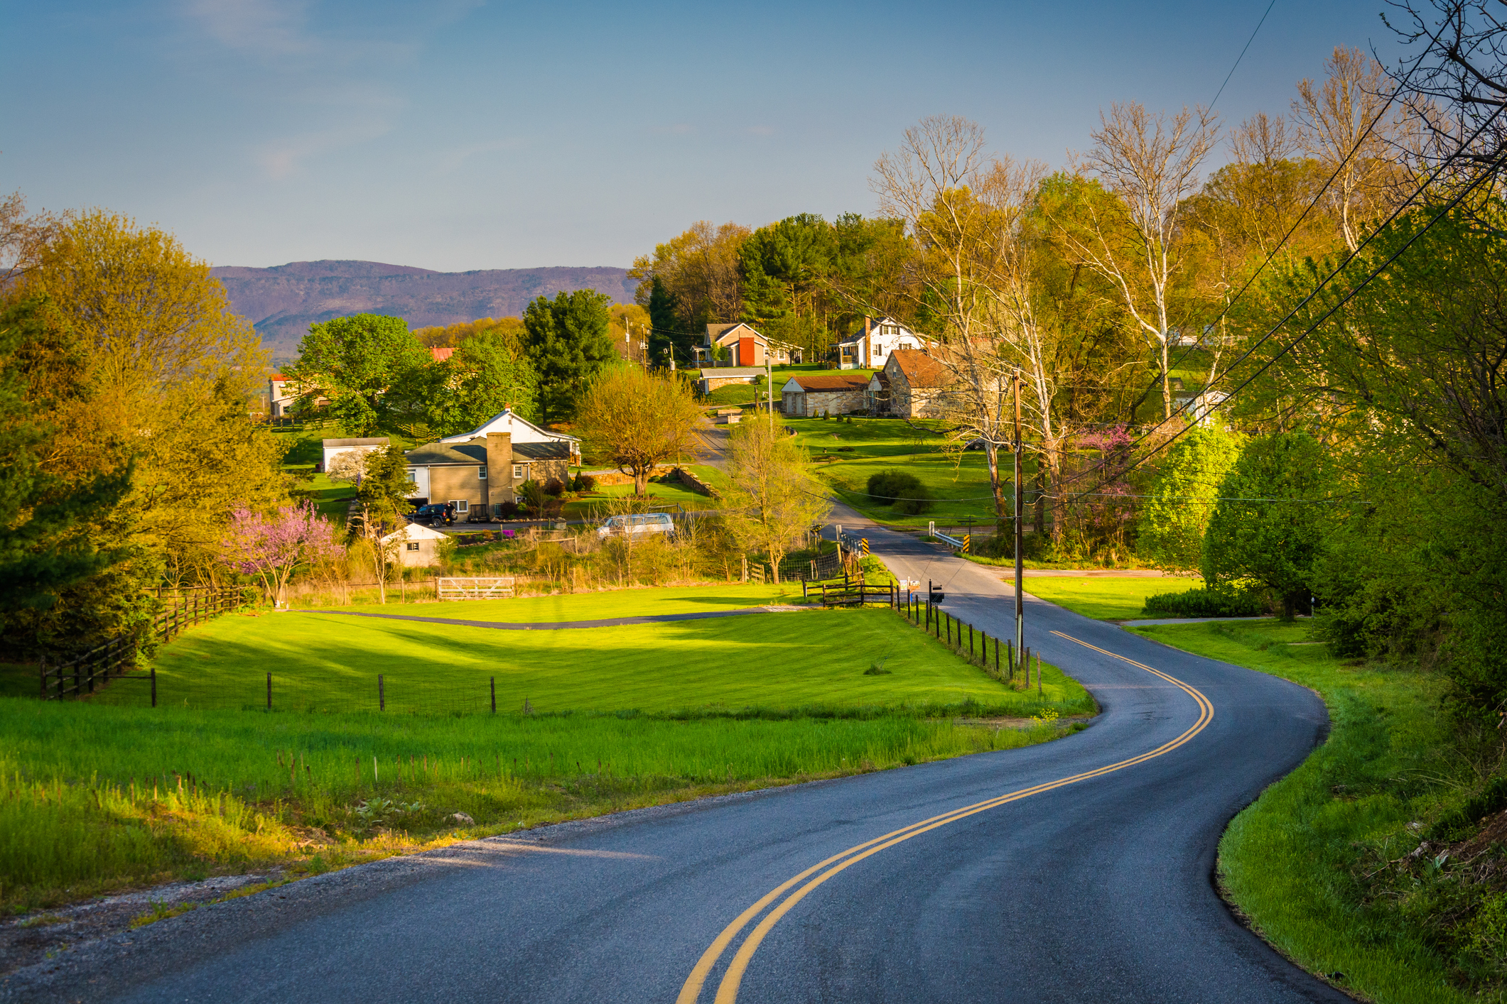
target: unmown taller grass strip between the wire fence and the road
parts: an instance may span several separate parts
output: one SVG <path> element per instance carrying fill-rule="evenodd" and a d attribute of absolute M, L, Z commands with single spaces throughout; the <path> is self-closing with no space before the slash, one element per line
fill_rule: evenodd
<path fill-rule="evenodd" d="M 0 700 L 0 906 L 295 870 L 705 793 L 1040 742 L 919 716 L 669 721 L 122 709 Z M 455 813 L 475 823 L 461 826 Z"/>

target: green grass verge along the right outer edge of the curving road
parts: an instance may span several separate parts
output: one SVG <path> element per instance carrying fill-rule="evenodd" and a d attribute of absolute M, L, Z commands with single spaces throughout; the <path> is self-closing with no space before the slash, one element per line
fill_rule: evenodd
<path fill-rule="evenodd" d="M 1418 899 L 1450 887 L 1448 869 L 1397 875 L 1441 804 L 1477 783 L 1451 748 L 1441 680 L 1411 668 L 1337 659 L 1305 623 L 1215 622 L 1133 628 L 1166 644 L 1319 691 L 1332 732 L 1296 771 L 1230 825 L 1219 879 L 1257 930 L 1314 972 L 1365 999 L 1411 1004 L 1481 999 L 1420 923 Z M 1392 885 L 1361 875 L 1391 873 Z M 1453 986 L 1451 986 L 1453 984 Z M 1498 999 L 1490 996 L 1489 999 Z"/>

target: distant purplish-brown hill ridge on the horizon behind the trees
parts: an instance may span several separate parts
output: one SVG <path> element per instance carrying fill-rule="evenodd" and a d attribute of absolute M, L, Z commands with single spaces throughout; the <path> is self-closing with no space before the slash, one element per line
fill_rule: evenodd
<path fill-rule="evenodd" d="M 291 262 L 211 271 L 225 283 L 235 313 L 252 321 L 262 345 L 280 360 L 297 354 L 310 324 L 348 313 L 383 313 L 426 328 L 517 316 L 535 297 L 562 291 L 595 289 L 615 303 L 633 303 L 627 269 L 607 266 L 436 272 L 381 262 Z"/>

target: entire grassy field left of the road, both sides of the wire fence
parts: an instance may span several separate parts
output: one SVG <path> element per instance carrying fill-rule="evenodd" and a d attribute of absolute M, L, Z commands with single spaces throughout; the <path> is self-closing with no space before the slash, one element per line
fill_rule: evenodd
<path fill-rule="evenodd" d="M 405 611 L 538 623 L 778 598 L 738 586 Z M 1049 712 L 1093 710 L 1056 667 L 1038 698 L 886 608 L 570 631 L 231 614 L 166 646 L 155 667 L 155 709 L 140 682 L 84 703 L 0 698 L 0 908 L 270 864 L 319 872 L 466 835 L 1013 748 L 1064 735 Z M 378 674 L 386 710 L 375 710 Z M 1040 721 L 958 721 L 984 715 Z"/>

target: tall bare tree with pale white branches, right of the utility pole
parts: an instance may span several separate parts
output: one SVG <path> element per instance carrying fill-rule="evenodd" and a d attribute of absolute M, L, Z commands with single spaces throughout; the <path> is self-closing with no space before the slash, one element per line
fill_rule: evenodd
<path fill-rule="evenodd" d="M 1088 232 L 1067 227 L 1064 233 L 1085 263 L 1115 286 L 1159 352 L 1162 411 L 1171 417 L 1171 298 L 1183 263 L 1178 226 L 1185 200 L 1200 188 L 1200 170 L 1219 126 L 1203 107 L 1183 108 L 1168 119 L 1153 116 L 1139 102 L 1111 105 L 1108 116 L 1100 113 L 1100 123 L 1082 167 L 1118 199 L 1108 206 L 1085 200 Z"/>

